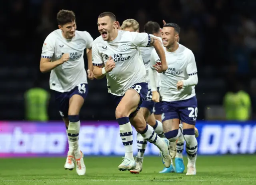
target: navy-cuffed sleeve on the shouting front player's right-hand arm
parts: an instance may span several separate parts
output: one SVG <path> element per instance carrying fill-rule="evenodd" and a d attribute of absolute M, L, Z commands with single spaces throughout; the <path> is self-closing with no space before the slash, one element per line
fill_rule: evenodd
<path fill-rule="evenodd" d="M 147 47 L 150 44 L 150 35 L 147 33 L 131 32 L 132 43 L 136 47 Z"/>

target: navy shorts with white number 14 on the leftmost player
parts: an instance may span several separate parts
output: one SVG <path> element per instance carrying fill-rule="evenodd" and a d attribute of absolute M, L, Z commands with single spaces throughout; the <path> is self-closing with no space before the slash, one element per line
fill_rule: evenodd
<path fill-rule="evenodd" d="M 79 84 L 69 92 L 62 93 L 54 91 L 55 102 L 57 103 L 60 115 L 62 117 L 68 117 L 69 99 L 74 94 L 78 94 L 85 99 L 88 94 L 88 84 Z"/>

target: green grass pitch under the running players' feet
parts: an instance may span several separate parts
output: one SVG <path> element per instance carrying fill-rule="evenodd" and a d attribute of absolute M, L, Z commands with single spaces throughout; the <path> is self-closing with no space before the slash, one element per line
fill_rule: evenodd
<path fill-rule="evenodd" d="M 86 175 L 78 176 L 75 169 L 64 170 L 65 158 L 0 159 L 0 185 L 256 185 L 255 155 L 198 156 L 196 176 L 159 174 L 160 156 L 146 156 L 138 175 L 118 171 L 122 157 L 84 160 Z"/>

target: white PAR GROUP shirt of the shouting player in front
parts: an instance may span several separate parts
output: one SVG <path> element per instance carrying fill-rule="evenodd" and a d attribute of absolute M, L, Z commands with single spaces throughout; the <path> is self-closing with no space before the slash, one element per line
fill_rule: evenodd
<path fill-rule="evenodd" d="M 134 84 L 146 82 L 146 69 L 139 47 L 147 47 L 150 36 L 147 33 L 118 30 L 115 40 L 107 42 L 102 36 L 92 44 L 92 63 L 94 66 L 106 64 L 111 56 L 116 67 L 106 73 L 108 92 L 122 96 Z"/>

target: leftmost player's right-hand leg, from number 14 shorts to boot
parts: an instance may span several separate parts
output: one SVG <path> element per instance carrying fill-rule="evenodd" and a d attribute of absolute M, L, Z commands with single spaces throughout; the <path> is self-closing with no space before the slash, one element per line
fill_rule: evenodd
<path fill-rule="evenodd" d="M 70 147 L 74 153 L 76 159 L 76 172 L 78 175 L 84 175 L 86 172 L 86 167 L 84 165 L 83 153 L 80 151 L 78 144 L 79 132 L 80 132 L 80 119 L 79 113 L 82 105 L 84 104 L 84 99 L 88 93 L 87 84 L 80 84 L 76 86 L 70 95 L 69 108 L 68 108 L 68 140 Z"/>

